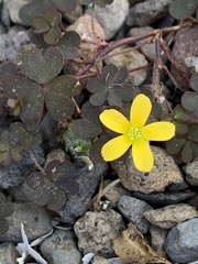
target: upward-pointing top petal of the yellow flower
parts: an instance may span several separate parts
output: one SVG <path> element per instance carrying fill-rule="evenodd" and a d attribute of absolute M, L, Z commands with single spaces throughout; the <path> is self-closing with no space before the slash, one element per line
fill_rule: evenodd
<path fill-rule="evenodd" d="M 148 97 L 139 95 L 134 98 L 131 111 L 130 120 L 133 125 L 143 127 L 151 113 L 152 103 Z"/>

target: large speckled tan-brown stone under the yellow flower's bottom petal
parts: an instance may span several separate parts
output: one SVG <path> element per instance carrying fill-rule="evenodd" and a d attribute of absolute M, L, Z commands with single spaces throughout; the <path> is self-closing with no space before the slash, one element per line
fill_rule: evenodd
<path fill-rule="evenodd" d="M 183 183 L 183 176 L 173 157 L 157 146 L 151 146 L 154 155 L 154 167 L 148 174 L 143 174 L 134 167 L 131 154 L 125 161 L 114 161 L 112 168 L 118 174 L 121 184 L 129 190 L 150 194 L 164 191 L 175 183 Z"/>

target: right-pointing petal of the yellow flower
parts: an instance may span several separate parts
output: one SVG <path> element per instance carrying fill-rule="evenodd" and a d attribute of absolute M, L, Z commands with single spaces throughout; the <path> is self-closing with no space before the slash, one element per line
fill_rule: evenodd
<path fill-rule="evenodd" d="M 143 129 L 143 136 L 150 141 L 166 141 L 174 136 L 175 124 L 166 121 L 146 124 Z"/>

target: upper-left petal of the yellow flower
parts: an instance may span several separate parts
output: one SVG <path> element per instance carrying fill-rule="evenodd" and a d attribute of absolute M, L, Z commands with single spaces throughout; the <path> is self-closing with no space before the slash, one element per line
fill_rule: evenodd
<path fill-rule="evenodd" d="M 108 129 L 118 133 L 127 133 L 131 127 L 129 120 L 114 109 L 105 110 L 99 118 Z"/>

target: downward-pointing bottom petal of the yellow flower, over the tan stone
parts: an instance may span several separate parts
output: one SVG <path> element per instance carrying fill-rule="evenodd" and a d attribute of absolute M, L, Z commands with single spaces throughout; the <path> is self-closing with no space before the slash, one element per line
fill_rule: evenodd
<path fill-rule="evenodd" d="M 145 140 L 133 142 L 132 157 L 134 165 L 139 170 L 147 173 L 153 168 L 153 154 Z"/>

